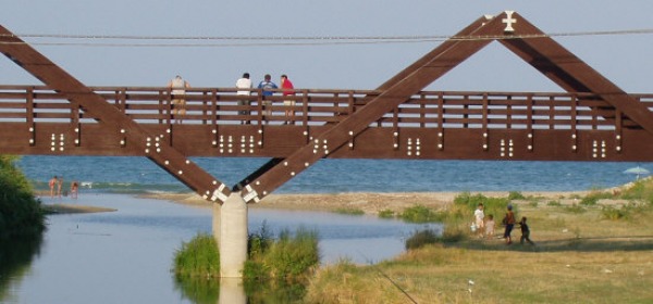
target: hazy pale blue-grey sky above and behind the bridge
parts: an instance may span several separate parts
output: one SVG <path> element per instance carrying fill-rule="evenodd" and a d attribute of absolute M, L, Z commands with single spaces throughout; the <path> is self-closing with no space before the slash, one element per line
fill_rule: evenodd
<path fill-rule="evenodd" d="M 445 37 L 482 15 L 506 10 L 518 12 L 544 33 L 653 29 L 653 1 L 634 0 L 0 0 L 0 25 L 19 36 Z M 233 40 L 211 40 L 211 47 L 144 48 L 88 46 L 115 40 L 24 39 L 29 43 L 86 43 L 34 47 L 87 86 L 164 86 L 180 74 L 194 87 L 233 87 L 248 72 L 254 83 L 264 74 L 276 81 L 281 74 L 287 74 L 296 88 L 315 89 L 374 89 L 442 43 L 261 46 L 248 40 L 249 46 L 234 46 Z M 653 91 L 653 34 L 554 39 L 627 92 Z M 13 62 L 0 58 L 0 85 L 39 84 Z M 562 91 L 497 42 L 428 89 Z"/>

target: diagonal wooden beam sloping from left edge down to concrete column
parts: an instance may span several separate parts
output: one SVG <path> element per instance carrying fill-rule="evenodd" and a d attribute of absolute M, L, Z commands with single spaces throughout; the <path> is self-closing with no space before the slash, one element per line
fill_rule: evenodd
<path fill-rule="evenodd" d="M 143 155 L 173 175 L 190 189 L 215 202 L 224 202 L 231 190 L 183 153 L 165 142 L 165 138 L 147 132 L 138 124 L 109 104 L 99 94 L 57 66 L 25 41 L 0 26 L 0 52 L 51 89 L 107 127 L 107 132 L 124 134 L 127 145 L 137 147 Z"/>

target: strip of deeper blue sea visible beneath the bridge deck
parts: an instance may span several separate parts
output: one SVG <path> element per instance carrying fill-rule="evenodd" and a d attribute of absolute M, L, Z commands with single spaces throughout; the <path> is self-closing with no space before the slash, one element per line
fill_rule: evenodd
<path fill-rule="evenodd" d="M 234 185 L 267 159 L 193 159 L 226 185 Z M 37 189 L 53 176 L 82 181 L 82 191 L 141 193 L 189 191 L 145 157 L 23 156 L 19 167 Z M 322 160 L 278 193 L 426 191 L 575 191 L 632 181 L 624 170 L 653 163 Z"/>

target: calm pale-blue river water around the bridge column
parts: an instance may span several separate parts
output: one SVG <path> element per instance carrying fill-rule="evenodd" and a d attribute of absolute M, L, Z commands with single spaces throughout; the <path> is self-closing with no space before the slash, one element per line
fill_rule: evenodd
<path fill-rule="evenodd" d="M 20 262 L 25 265 L 0 274 L 4 277 L 0 302 L 206 303 L 197 299 L 211 299 L 210 294 L 188 294 L 171 273 L 173 256 L 182 243 L 198 232 L 210 233 L 210 208 L 108 193 L 85 194 L 77 201 L 45 198 L 44 203 L 116 211 L 48 216 L 48 230 L 40 244 L 28 250 Z M 263 221 L 273 232 L 315 229 L 320 237 L 322 265 L 341 258 L 358 264 L 392 258 L 404 251 L 406 237 L 426 228 L 374 216 L 249 210 L 250 231 L 258 230 Z M 0 249 L 5 250 L 11 251 L 8 245 Z"/>

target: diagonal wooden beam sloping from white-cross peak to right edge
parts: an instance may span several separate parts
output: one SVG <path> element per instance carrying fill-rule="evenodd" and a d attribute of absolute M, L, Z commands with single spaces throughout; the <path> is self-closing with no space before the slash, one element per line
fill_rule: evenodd
<path fill-rule="evenodd" d="M 653 134 L 653 113 L 614 83 L 569 52 L 519 14 L 514 13 L 517 38 L 500 42 L 569 92 L 592 92 Z M 528 37 L 533 38 L 528 38 Z M 520 38 L 523 37 L 523 38 Z M 597 109 L 602 113 L 602 109 Z M 612 118 L 612 117 L 606 117 Z"/>

